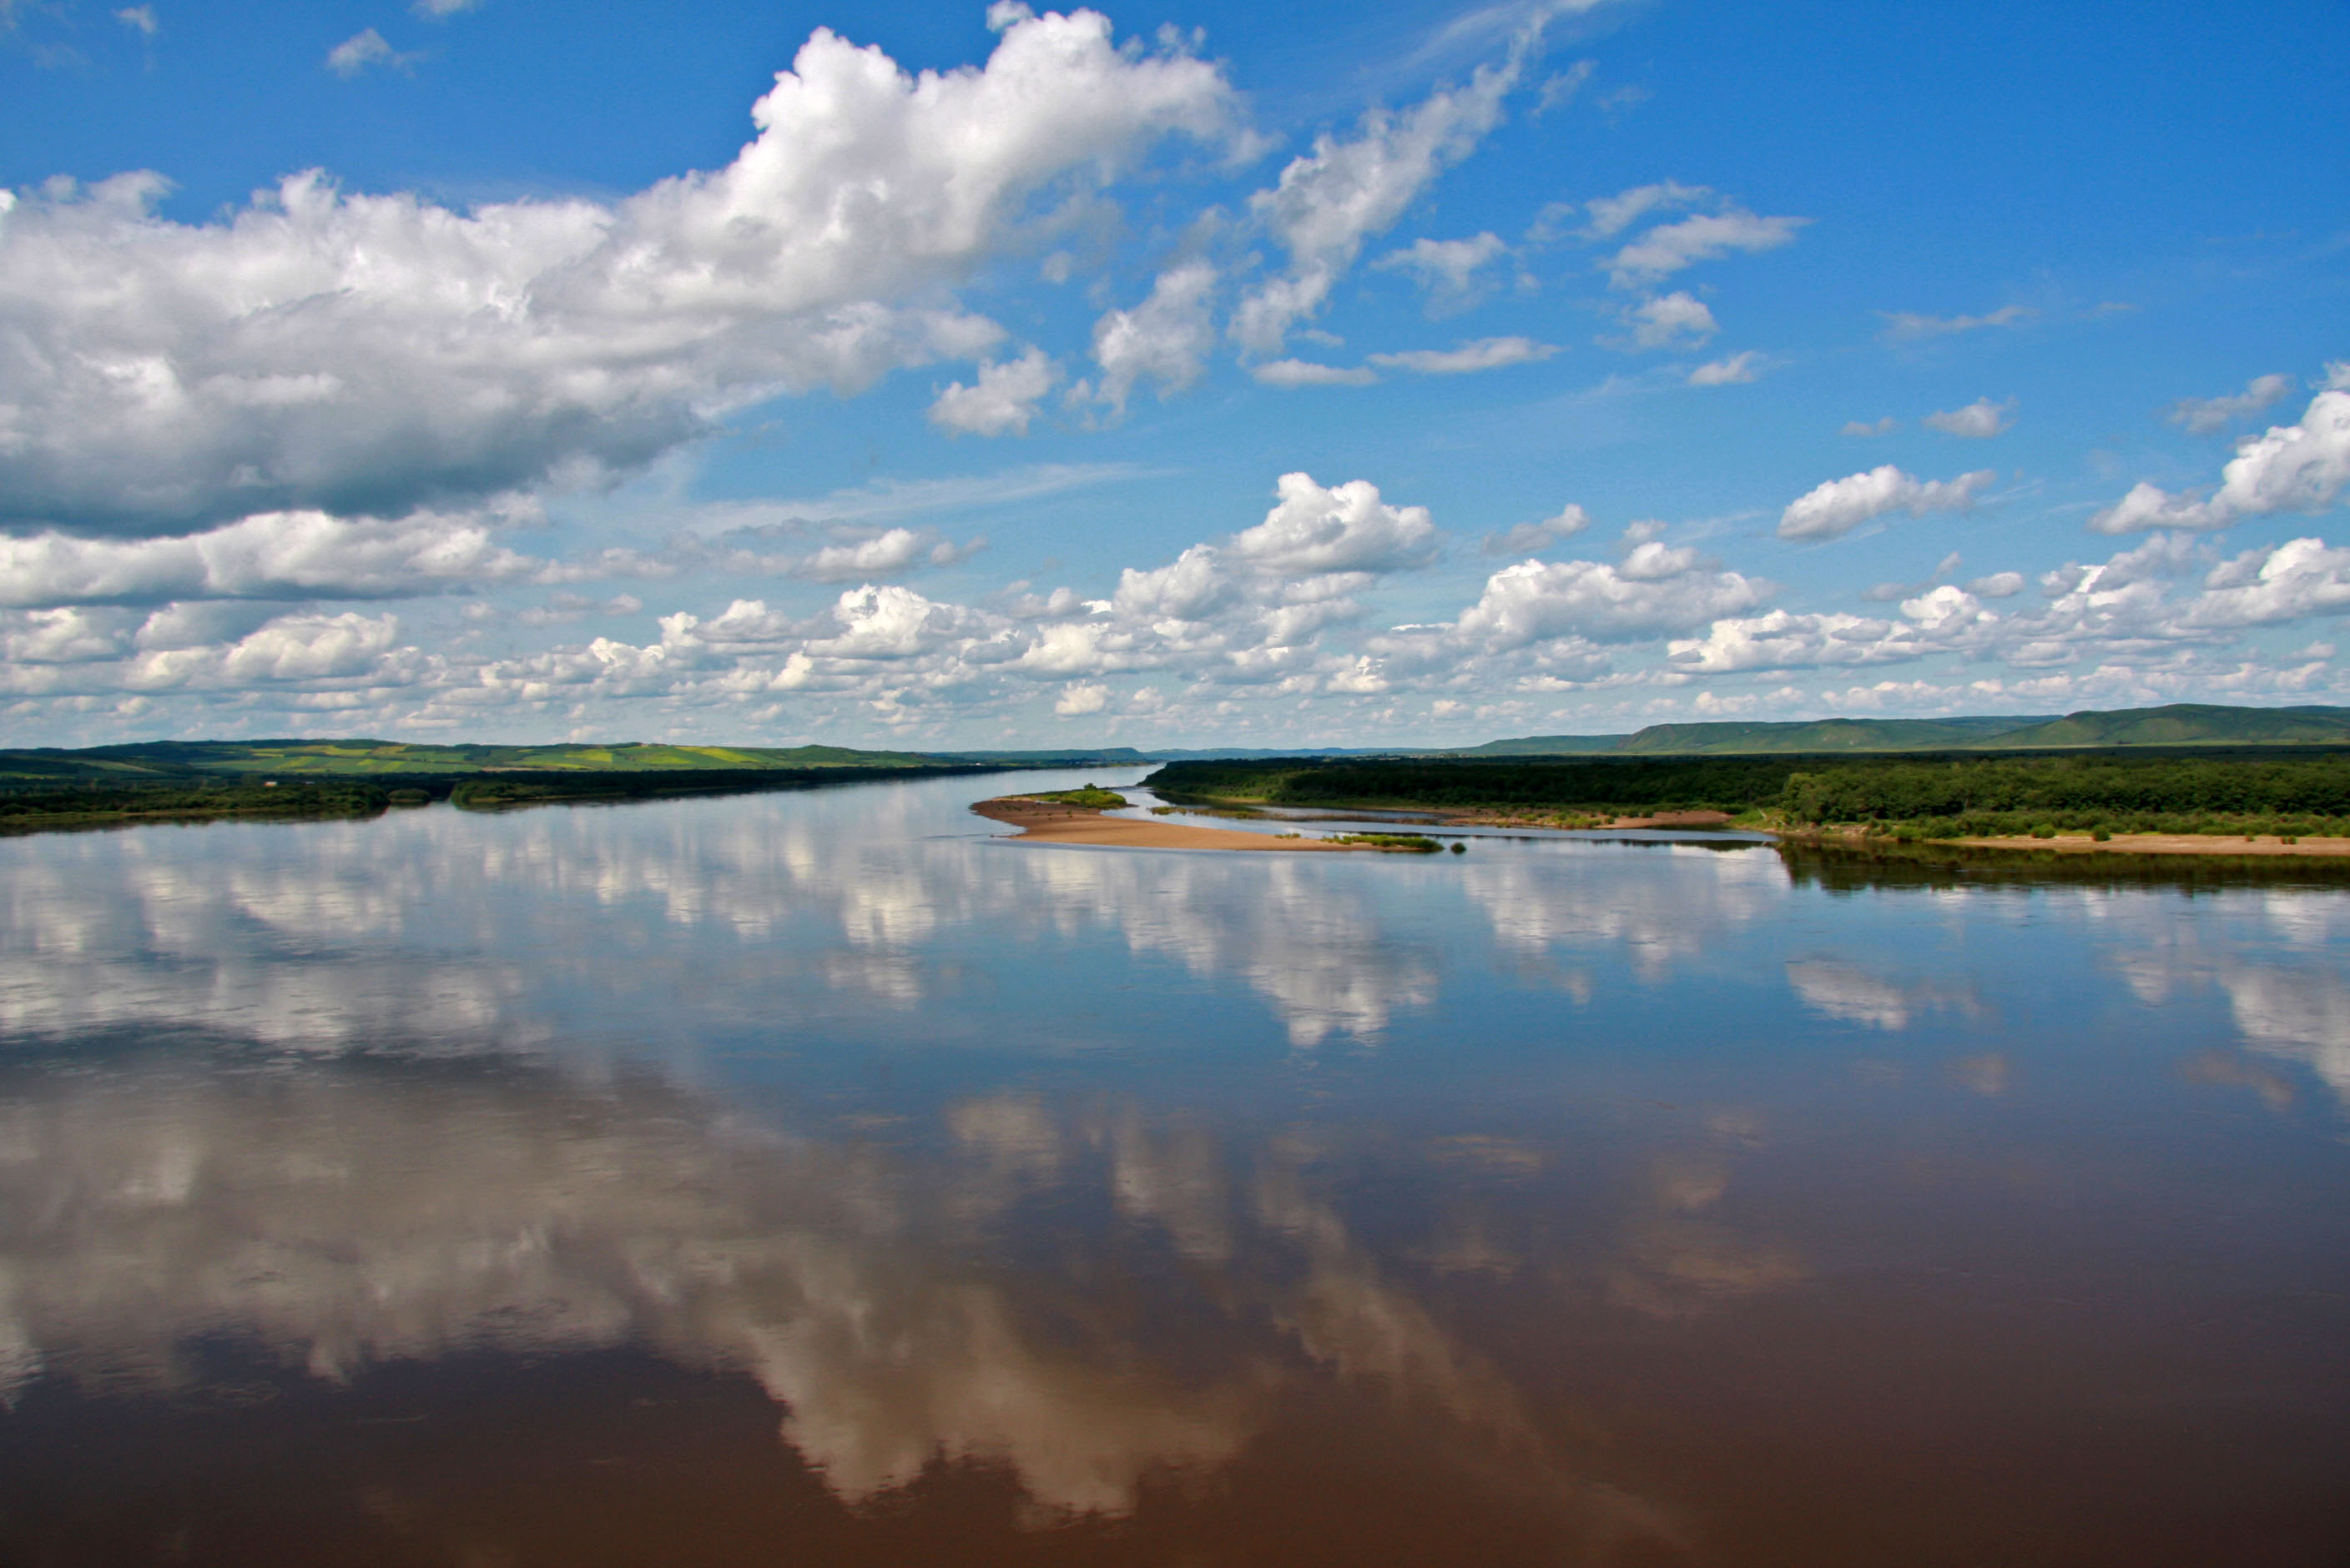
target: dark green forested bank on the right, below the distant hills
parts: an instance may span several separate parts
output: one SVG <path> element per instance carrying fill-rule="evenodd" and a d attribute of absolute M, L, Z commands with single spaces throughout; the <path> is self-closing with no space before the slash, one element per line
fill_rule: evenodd
<path fill-rule="evenodd" d="M 2350 753 L 2319 756 L 1692 756 L 1488 763 L 1347 758 L 1168 763 L 1175 800 L 1488 807 L 1551 815 L 1718 810 L 1781 826 L 1920 838 L 2033 831 L 2350 833 Z"/>

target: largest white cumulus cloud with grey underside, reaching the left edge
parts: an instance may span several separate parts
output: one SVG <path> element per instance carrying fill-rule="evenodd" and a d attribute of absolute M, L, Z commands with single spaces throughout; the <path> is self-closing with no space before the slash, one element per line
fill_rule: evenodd
<path fill-rule="evenodd" d="M 1210 63 L 1093 12 L 985 68 L 818 31 L 719 171 L 470 214 L 301 174 L 216 223 L 164 183 L 52 183 L 0 218 L 0 523 L 179 533 L 402 514 L 620 474 L 776 392 L 858 390 L 1001 331 L 945 289 L 1168 136 L 1220 138 Z"/>

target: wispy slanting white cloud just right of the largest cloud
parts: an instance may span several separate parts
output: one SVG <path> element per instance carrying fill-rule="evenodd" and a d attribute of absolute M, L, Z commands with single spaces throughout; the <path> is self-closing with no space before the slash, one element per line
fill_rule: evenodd
<path fill-rule="evenodd" d="M 1443 87 L 1398 113 L 1375 108 L 1354 138 L 1318 136 L 1290 160 L 1271 190 L 1248 200 L 1250 216 L 1288 251 L 1281 277 L 1253 286 L 1231 336 L 1253 354 L 1278 354 L 1290 326 L 1311 319 L 1370 235 L 1386 232 L 1429 181 L 1469 157 L 1502 120 L 1518 82 L 1518 59 L 1480 66 L 1466 87 Z"/>

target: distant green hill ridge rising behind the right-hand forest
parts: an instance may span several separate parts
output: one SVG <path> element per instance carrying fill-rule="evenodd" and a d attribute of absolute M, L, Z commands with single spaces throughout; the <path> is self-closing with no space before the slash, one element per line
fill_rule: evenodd
<path fill-rule="evenodd" d="M 2171 702 L 2082 714 L 1661 723 L 1633 735 L 1525 735 L 1441 756 L 1737 756 L 1833 751 L 2049 751 L 2080 746 L 2350 746 L 2350 707 Z M 1438 756 L 1438 753 L 1424 753 Z"/>

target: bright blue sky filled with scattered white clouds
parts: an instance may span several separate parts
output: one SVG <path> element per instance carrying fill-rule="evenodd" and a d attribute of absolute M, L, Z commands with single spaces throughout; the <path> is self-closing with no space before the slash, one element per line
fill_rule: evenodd
<path fill-rule="evenodd" d="M 2345 80 L 2341 0 L 0 0 L 0 739 L 2343 704 Z"/>

